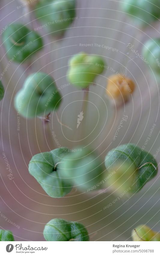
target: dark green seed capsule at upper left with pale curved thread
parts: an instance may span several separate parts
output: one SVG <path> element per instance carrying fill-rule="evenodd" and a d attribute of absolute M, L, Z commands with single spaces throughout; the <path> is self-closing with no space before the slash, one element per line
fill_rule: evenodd
<path fill-rule="evenodd" d="M 18 63 L 32 57 L 43 47 L 41 36 L 20 23 L 9 25 L 2 38 L 8 59 Z"/>

